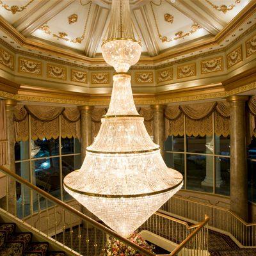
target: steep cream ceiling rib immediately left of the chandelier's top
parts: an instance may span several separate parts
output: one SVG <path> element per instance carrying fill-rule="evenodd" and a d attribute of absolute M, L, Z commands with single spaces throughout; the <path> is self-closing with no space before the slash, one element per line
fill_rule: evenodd
<path fill-rule="evenodd" d="M 86 56 L 93 58 L 95 57 L 97 48 L 100 44 L 100 39 L 103 34 L 104 28 L 106 26 L 106 21 L 108 19 L 109 10 L 100 7 L 99 5 L 95 5 L 95 9 L 93 10 L 93 15 L 91 17 L 90 26 L 88 26 L 84 53 Z"/>

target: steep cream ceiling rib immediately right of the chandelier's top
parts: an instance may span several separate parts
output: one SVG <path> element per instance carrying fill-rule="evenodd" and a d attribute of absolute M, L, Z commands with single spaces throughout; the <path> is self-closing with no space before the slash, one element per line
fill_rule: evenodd
<path fill-rule="evenodd" d="M 140 33 L 147 47 L 148 55 L 151 57 L 156 56 L 157 54 L 159 54 L 159 47 L 156 42 L 156 37 L 153 34 L 152 23 L 150 22 L 150 19 L 148 19 L 145 6 L 138 10 L 134 10 L 133 13 L 134 19 L 136 20 L 137 24 L 140 24 L 138 28 L 140 29 Z"/>

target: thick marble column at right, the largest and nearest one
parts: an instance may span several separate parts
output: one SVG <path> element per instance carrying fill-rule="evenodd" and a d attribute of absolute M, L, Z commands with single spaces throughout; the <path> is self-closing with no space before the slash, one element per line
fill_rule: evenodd
<path fill-rule="evenodd" d="M 230 210 L 248 221 L 246 118 L 244 95 L 228 97 L 230 103 Z"/>

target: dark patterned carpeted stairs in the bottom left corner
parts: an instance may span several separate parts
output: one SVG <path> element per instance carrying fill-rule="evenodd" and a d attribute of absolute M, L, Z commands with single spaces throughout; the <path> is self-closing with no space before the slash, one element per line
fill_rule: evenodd
<path fill-rule="evenodd" d="M 65 252 L 49 252 L 47 242 L 32 242 L 31 232 L 17 232 L 15 223 L 0 223 L 1 256 L 65 256 Z"/>

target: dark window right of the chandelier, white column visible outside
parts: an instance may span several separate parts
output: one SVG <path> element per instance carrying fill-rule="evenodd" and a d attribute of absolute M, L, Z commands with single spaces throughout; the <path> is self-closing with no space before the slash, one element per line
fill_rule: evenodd
<path fill-rule="evenodd" d="M 214 115 L 216 115 L 215 112 L 204 120 L 207 122 L 205 124 L 207 128 L 204 129 L 207 134 L 198 132 L 200 135 L 196 134 L 196 136 L 191 132 L 191 127 L 188 131 L 188 120 L 183 115 L 183 122 L 179 125 L 184 129 L 184 136 L 166 138 L 164 161 L 168 167 L 182 173 L 183 189 L 229 196 L 230 136 L 216 134 L 214 125 L 216 116 Z M 193 121 L 193 124 L 196 124 L 195 122 Z M 173 124 L 170 127 L 176 126 Z"/>

